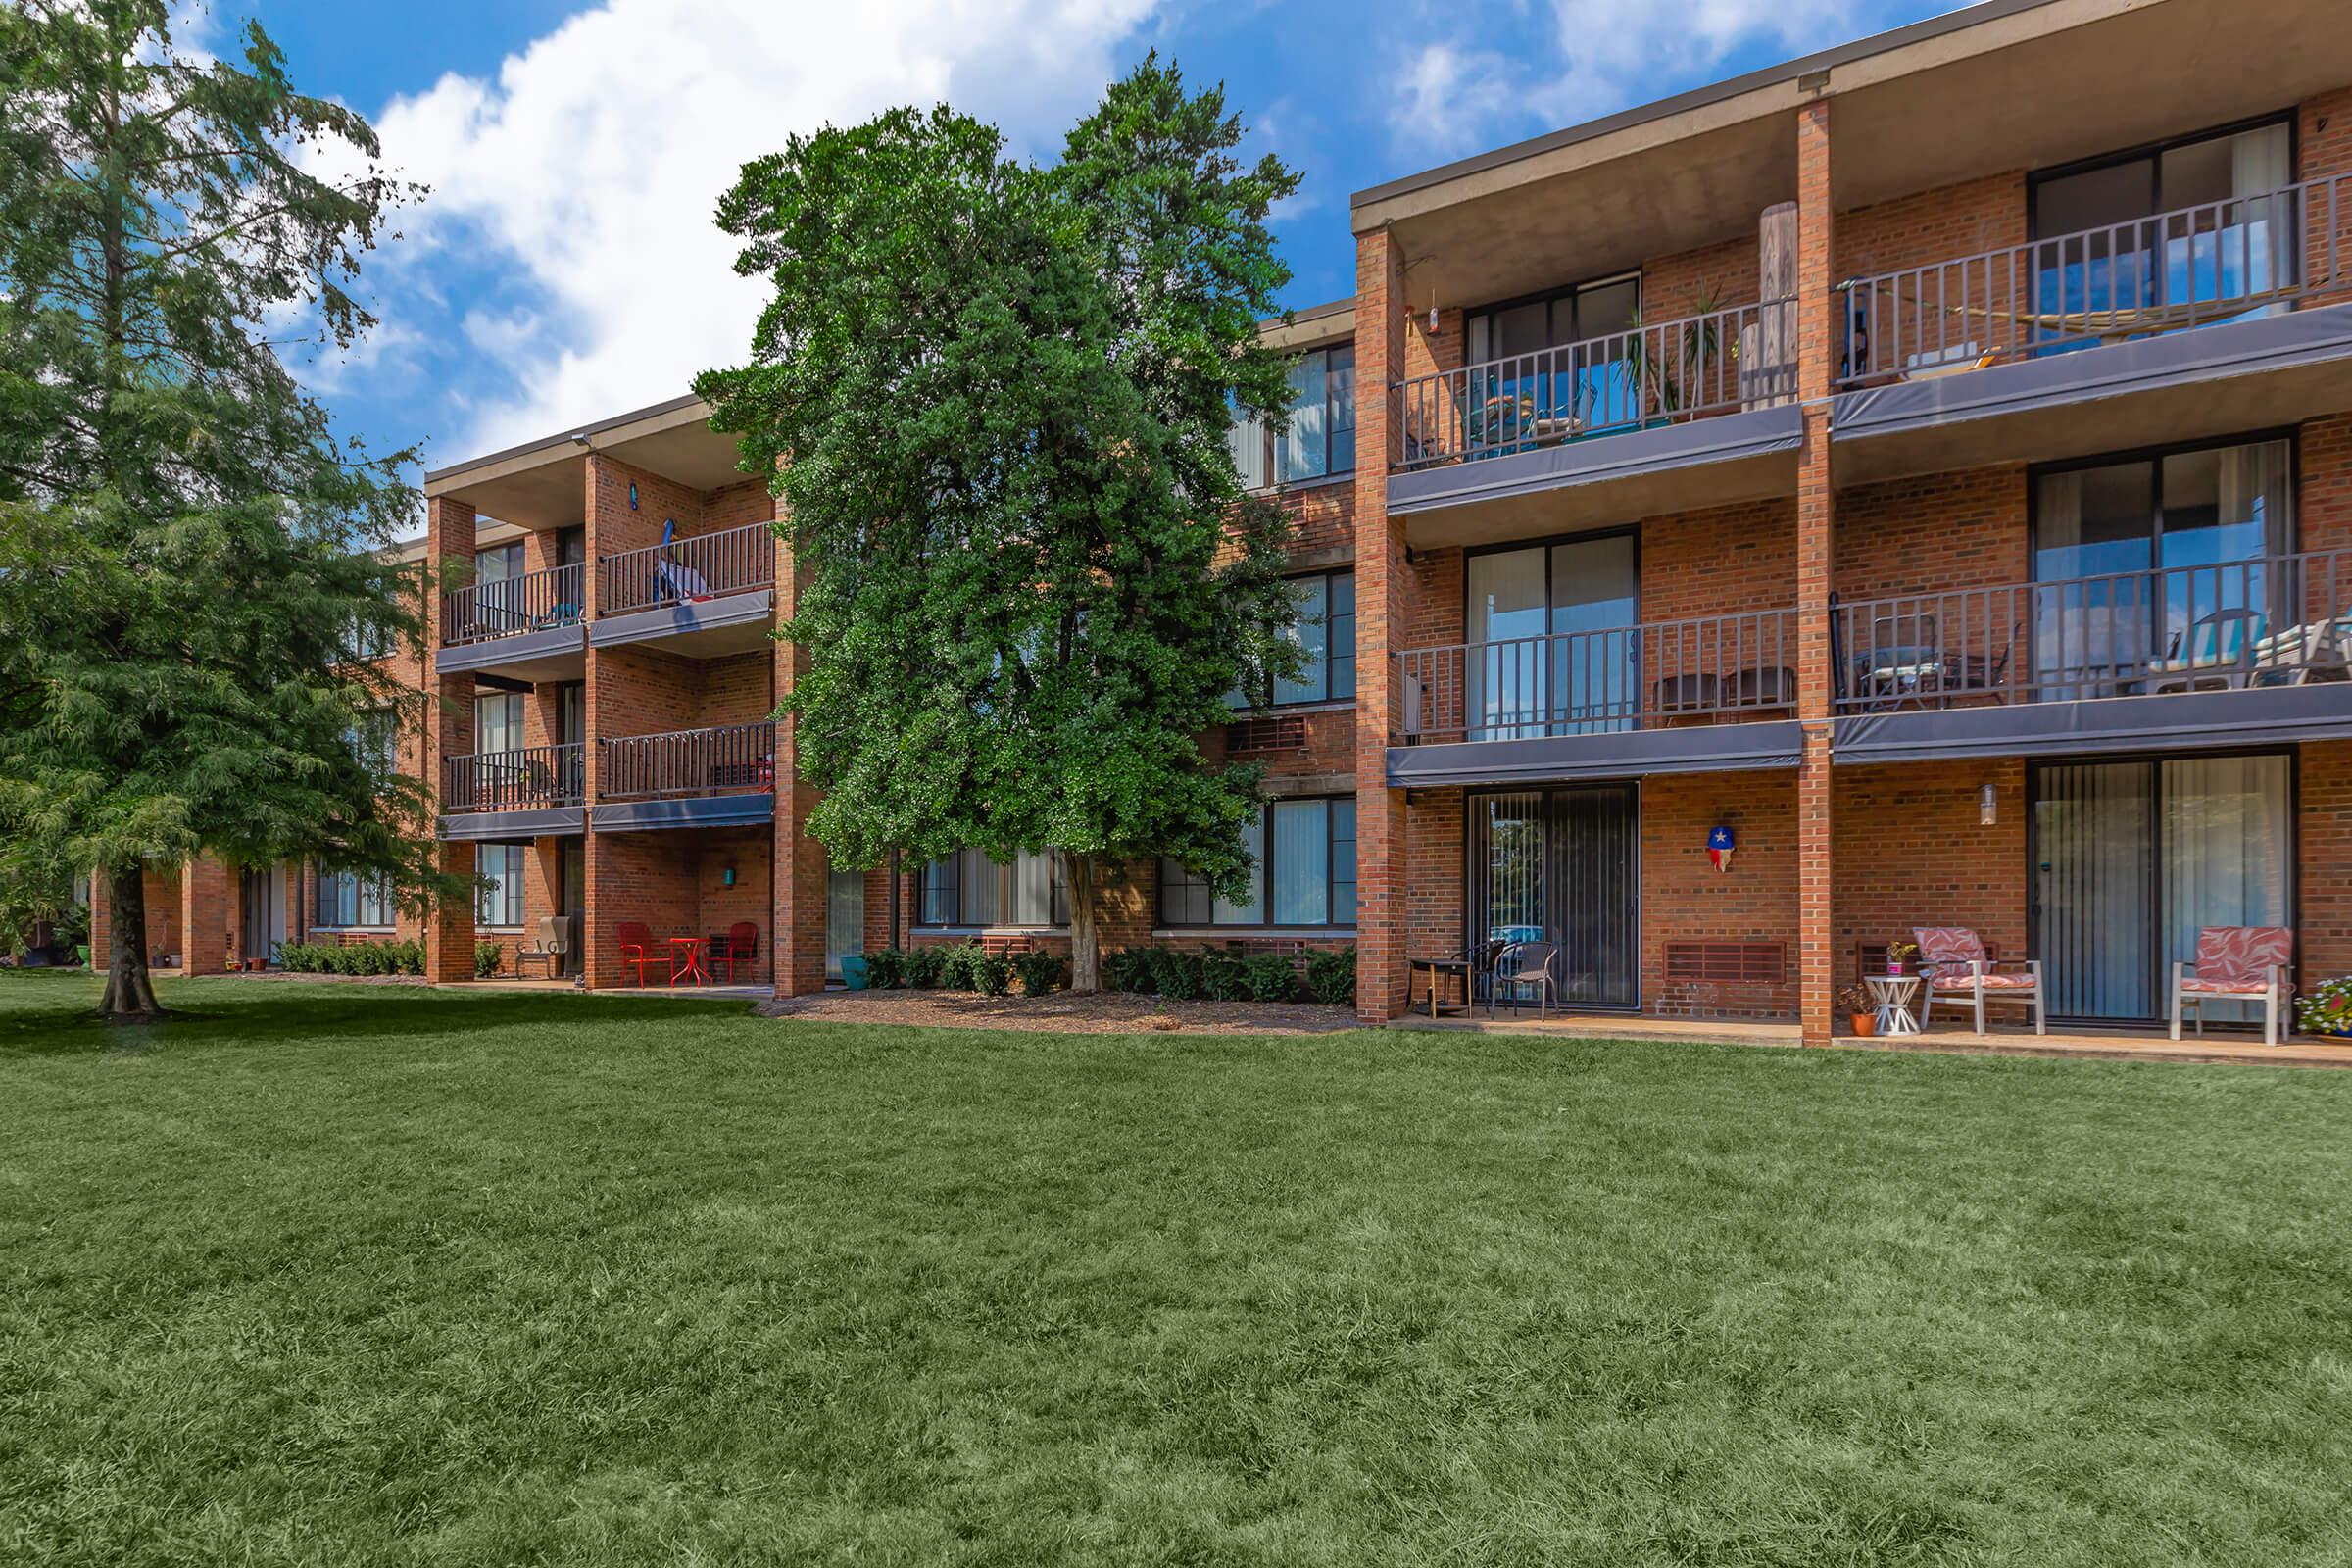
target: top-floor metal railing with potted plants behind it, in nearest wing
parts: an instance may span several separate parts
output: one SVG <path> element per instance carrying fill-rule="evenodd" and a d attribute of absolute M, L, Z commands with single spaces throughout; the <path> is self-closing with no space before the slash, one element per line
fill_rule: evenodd
<path fill-rule="evenodd" d="M 1797 395 L 1797 301 L 1411 376 L 1395 395 L 1402 449 L 1390 461 L 1399 473 L 1780 404 Z"/>

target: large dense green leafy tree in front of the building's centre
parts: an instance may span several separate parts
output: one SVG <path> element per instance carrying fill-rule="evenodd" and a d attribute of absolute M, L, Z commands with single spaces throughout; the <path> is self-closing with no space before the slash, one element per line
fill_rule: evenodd
<path fill-rule="evenodd" d="M 849 867 L 1058 851 L 1077 990 L 1120 867 L 1240 886 L 1261 778 L 1200 736 L 1298 661 L 1287 517 L 1225 440 L 1287 407 L 1258 320 L 1296 176 L 1240 139 L 1150 59 L 1054 167 L 901 108 L 795 136 L 720 205 L 774 294 L 696 390 L 786 501 L 811 832 Z"/>

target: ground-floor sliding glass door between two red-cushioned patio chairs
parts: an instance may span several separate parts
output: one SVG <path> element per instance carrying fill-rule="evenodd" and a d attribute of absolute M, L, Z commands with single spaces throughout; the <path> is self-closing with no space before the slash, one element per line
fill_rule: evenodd
<path fill-rule="evenodd" d="M 2293 924 L 2291 769 L 2277 752 L 2034 769 L 2030 914 L 2053 1016 L 2154 1023 L 2199 929 Z"/>

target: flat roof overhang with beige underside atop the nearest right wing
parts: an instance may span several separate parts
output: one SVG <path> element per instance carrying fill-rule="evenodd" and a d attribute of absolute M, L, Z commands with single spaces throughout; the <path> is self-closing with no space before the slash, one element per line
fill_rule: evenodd
<path fill-rule="evenodd" d="M 1421 310 L 1482 306 L 1752 235 L 1797 195 L 1795 108 L 1832 101 L 1839 209 L 2286 108 L 2352 80 L 2340 0 L 1990 0 L 1352 202 Z M 1966 134 L 1952 134 L 1964 127 Z"/>

